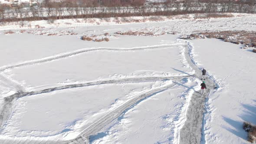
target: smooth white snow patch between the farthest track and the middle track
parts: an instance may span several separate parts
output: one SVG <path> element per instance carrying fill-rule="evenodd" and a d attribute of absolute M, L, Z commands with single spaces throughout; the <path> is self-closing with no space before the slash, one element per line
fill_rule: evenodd
<path fill-rule="evenodd" d="M 121 38 L 120 38 L 121 39 Z M 134 47 L 128 50 L 96 49 L 50 62 L 21 66 L 6 71 L 24 87 L 47 88 L 63 82 L 94 81 L 147 76 L 185 75 L 188 67 L 180 62 L 183 43 Z M 183 47 L 184 49 L 184 47 Z M 93 50 L 93 49 L 92 49 Z M 179 72 L 177 69 L 179 68 Z M 29 71 L 29 72 L 28 72 Z M 188 71 L 189 72 L 189 71 Z M 62 73 L 61 75 L 59 75 Z M 40 78 L 40 79 L 38 79 Z M 58 84 L 60 83 L 60 84 Z"/>

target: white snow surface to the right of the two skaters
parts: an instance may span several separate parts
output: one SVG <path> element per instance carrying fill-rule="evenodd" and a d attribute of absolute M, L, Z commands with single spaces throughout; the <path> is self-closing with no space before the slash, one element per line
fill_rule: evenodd
<path fill-rule="evenodd" d="M 247 143 L 242 123 L 256 124 L 255 53 L 218 39 L 194 40 L 192 45 L 196 62 L 220 85 L 206 104 L 203 141 L 207 144 Z"/>

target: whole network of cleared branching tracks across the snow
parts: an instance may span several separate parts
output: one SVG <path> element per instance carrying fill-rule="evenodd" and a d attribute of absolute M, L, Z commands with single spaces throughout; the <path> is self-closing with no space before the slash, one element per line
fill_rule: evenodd
<path fill-rule="evenodd" d="M 50 62 L 57 59 L 63 59 L 69 56 L 75 56 L 84 52 L 90 52 L 90 51 L 98 51 L 98 50 L 112 50 L 112 51 L 134 51 L 134 50 L 145 50 L 145 49 L 160 49 L 160 48 L 170 48 L 171 46 L 184 46 L 184 49 L 181 49 L 181 57 L 182 62 L 184 63 L 184 66 L 189 67 L 192 71 L 195 72 L 195 75 L 187 74 L 187 76 L 159 76 L 159 77 L 131 77 L 131 78 L 123 78 L 123 79 L 107 79 L 107 80 L 99 80 L 99 81 L 93 81 L 93 82 L 82 82 L 78 84 L 68 84 L 68 85 L 62 85 L 62 86 L 56 86 L 51 88 L 45 88 L 41 90 L 34 90 L 30 92 L 25 92 L 24 88 L 14 82 L 11 79 L 8 79 L 4 75 L 0 75 L 0 80 L 4 82 L 9 82 L 10 85 L 14 85 L 13 87 L 16 89 L 16 93 L 10 96 L 7 96 L 4 98 L 4 105 L 3 109 L 0 112 L 0 131 L 3 128 L 4 124 L 8 121 L 12 110 L 13 110 L 13 104 L 15 103 L 17 98 L 21 98 L 23 96 L 30 96 L 30 95 L 37 95 L 42 93 L 49 93 L 57 90 L 63 90 L 67 88 L 79 88 L 79 87 L 85 87 L 85 86 L 91 86 L 91 85 L 102 85 L 102 84 L 117 84 L 117 83 L 132 83 L 132 82 L 154 82 L 154 81 L 164 81 L 164 80 L 171 80 L 171 84 L 167 84 L 158 88 L 151 89 L 147 92 L 143 92 L 141 94 L 135 95 L 133 98 L 129 99 L 128 101 L 125 101 L 122 105 L 118 106 L 114 110 L 110 111 L 108 114 L 103 116 L 102 118 L 98 119 L 98 121 L 95 121 L 93 124 L 91 124 L 89 127 L 85 128 L 78 137 L 72 140 L 68 141 L 60 141 L 56 140 L 55 143 L 60 144 L 84 144 L 89 143 L 89 137 L 91 135 L 97 134 L 98 131 L 102 130 L 106 125 L 111 123 L 113 120 L 118 118 L 120 115 L 122 115 L 128 108 L 134 107 L 137 105 L 140 101 L 144 100 L 145 98 L 150 97 L 151 95 L 155 95 L 159 92 L 163 92 L 166 89 L 172 88 L 175 85 L 178 85 L 178 81 L 175 82 L 175 80 L 181 80 L 184 77 L 190 77 L 193 76 L 195 78 L 200 79 L 200 69 L 197 67 L 197 63 L 193 59 L 192 50 L 193 46 L 190 44 L 190 42 L 184 41 L 184 40 L 177 40 L 176 43 L 172 44 L 162 44 L 158 46 L 144 46 L 144 47 L 134 47 L 134 48 L 119 48 L 119 49 L 113 49 L 113 48 L 95 48 L 95 49 L 79 49 L 75 50 L 73 52 L 66 52 L 61 53 L 59 55 L 55 56 L 49 56 L 43 59 L 36 59 L 26 62 L 20 62 L 13 65 L 6 65 L 0 67 L 0 71 L 6 70 L 6 69 L 12 69 L 16 67 L 26 66 L 26 65 L 34 65 L 34 64 L 40 64 L 44 62 Z M 213 89 L 216 86 L 216 80 L 213 79 L 213 77 L 209 77 L 209 79 L 206 80 L 208 89 L 206 91 L 206 95 L 210 95 L 211 89 Z M 217 85 L 218 87 L 218 85 Z M 180 143 L 180 144 L 187 144 L 187 143 L 193 143 L 193 144 L 199 144 L 200 141 L 203 141 L 203 137 L 201 137 L 201 134 L 203 135 L 203 124 L 204 124 L 204 108 L 207 102 L 207 97 L 201 96 L 199 92 L 195 92 L 194 88 L 190 88 L 187 92 L 187 103 L 184 104 L 182 108 L 182 114 L 178 118 L 178 121 L 175 122 L 175 132 L 174 132 L 174 143 Z M 20 138 L 15 139 L 9 139 L 6 138 L 3 140 L 5 143 L 51 143 L 52 140 L 45 140 L 40 139 L 40 137 L 33 137 L 32 139 L 27 140 L 21 140 Z"/>

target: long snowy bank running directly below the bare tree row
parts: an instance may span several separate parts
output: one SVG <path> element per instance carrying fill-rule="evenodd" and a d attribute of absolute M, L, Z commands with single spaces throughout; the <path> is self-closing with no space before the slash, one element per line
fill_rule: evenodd
<path fill-rule="evenodd" d="M 223 18 L 221 18 L 223 15 Z M 225 16 L 230 16 L 226 18 Z M 239 23 L 249 24 L 248 22 L 254 21 L 253 17 L 255 14 L 247 14 L 247 13 L 217 13 L 216 16 L 225 20 L 238 20 L 239 18 L 250 17 L 248 21 L 237 21 Z M 0 23 L 0 30 L 11 30 L 11 29 L 33 29 L 37 27 L 43 28 L 52 28 L 52 27 L 76 27 L 76 26 L 93 26 L 93 25 L 120 25 L 120 24 L 129 24 L 129 23 L 154 23 L 154 22 L 174 22 L 177 23 L 177 20 L 180 24 L 185 24 L 186 29 L 188 23 L 182 23 L 182 21 L 190 21 L 190 22 L 198 22 L 205 23 L 208 28 L 210 26 L 208 24 L 209 20 L 217 20 L 214 17 L 207 16 L 207 13 L 197 13 L 197 14 L 184 14 L 184 15 L 174 15 L 174 16 L 132 16 L 132 17 L 111 17 L 111 18 L 85 18 L 85 19 L 65 19 L 65 20 L 54 20 L 53 22 L 49 22 L 47 20 L 39 20 L 39 21 L 20 21 L 20 22 L 7 22 Z M 217 20 L 219 21 L 219 20 Z M 220 20 L 223 22 L 223 20 Z M 222 28 L 225 28 L 225 23 Z M 226 24 L 232 24 L 227 21 Z M 178 26 L 178 25 L 177 25 Z M 202 25 L 203 26 L 203 25 Z M 235 26 L 235 25 L 234 25 Z M 193 26 L 191 26 L 193 27 Z M 174 27 L 175 28 L 175 27 Z M 200 27 L 201 30 L 203 27 Z M 222 29 L 219 27 L 219 29 Z M 177 29 L 181 30 L 181 29 Z M 191 29 L 192 30 L 192 29 Z M 237 29 L 240 30 L 240 29 Z"/>

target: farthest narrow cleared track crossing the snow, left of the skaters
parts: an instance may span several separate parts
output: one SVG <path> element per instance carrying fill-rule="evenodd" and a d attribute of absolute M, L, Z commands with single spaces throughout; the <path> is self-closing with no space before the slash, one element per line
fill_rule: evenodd
<path fill-rule="evenodd" d="M 5 65 L 5 66 L 0 67 L 0 71 L 3 71 L 5 69 L 12 69 L 12 68 L 16 68 L 16 67 L 26 66 L 26 65 L 35 65 L 35 64 L 39 64 L 39 63 L 50 62 L 50 61 L 57 60 L 57 59 L 64 59 L 66 57 L 79 55 L 79 54 L 84 53 L 84 52 L 92 52 L 92 51 L 99 51 L 99 50 L 135 51 L 135 50 L 146 50 L 146 49 L 164 49 L 164 48 L 170 48 L 171 46 L 181 46 L 181 45 L 184 45 L 184 43 L 162 44 L 162 45 L 156 45 L 156 46 L 142 46 L 142 47 L 133 47 L 133 48 L 79 49 L 79 50 L 75 50 L 73 52 L 65 52 L 65 53 L 60 53 L 60 54 L 55 55 L 55 56 L 45 57 L 43 59 L 35 59 L 35 60 L 16 63 L 16 64 L 13 64 L 13 65 Z"/>

